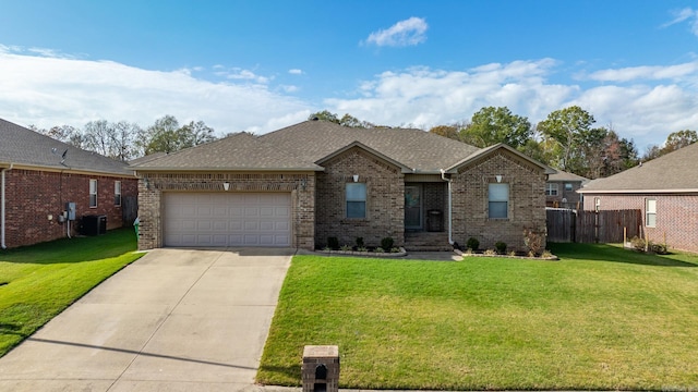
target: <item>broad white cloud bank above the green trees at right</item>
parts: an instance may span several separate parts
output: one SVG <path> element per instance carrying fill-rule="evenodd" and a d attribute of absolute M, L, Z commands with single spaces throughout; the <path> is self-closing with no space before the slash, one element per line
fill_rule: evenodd
<path fill-rule="evenodd" d="M 470 120 L 486 106 L 506 106 L 535 124 L 554 110 L 578 105 L 594 115 L 599 126 L 612 124 L 622 137 L 634 138 L 640 152 L 649 144 L 664 142 L 671 132 L 698 130 L 698 91 L 695 79 L 686 77 L 695 75 L 695 63 L 638 66 L 616 70 L 615 74 L 607 70 L 595 79 L 634 79 L 636 84 L 586 88 L 549 82 L 557 65 L 552 59 L 542 59 L 467 71 L 416 68 L 384 72 L 359 86 L 360 97 L 333 98 L 325 103 L 333 112 L 351 113 L 373 123 L 425 128 Z M 681 83 L 657 84 L 665 78 Z"/>

